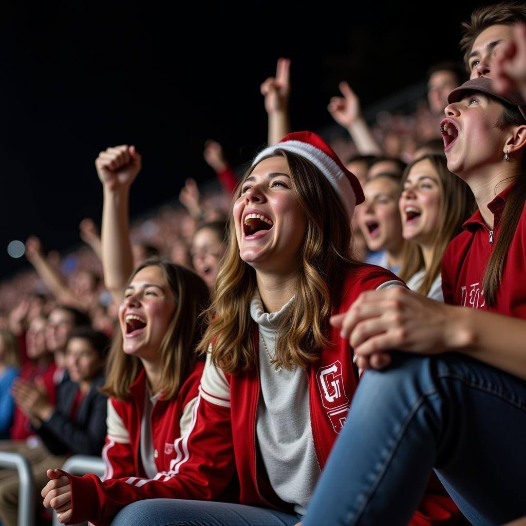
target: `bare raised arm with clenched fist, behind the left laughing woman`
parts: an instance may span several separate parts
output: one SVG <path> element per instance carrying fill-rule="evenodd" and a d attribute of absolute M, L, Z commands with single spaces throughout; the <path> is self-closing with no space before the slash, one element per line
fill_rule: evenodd
<path fill-rule="evenodd" d="M 114 301 L 120 304 L 133 271 L 129 239 L 129 191 L 141 169 L 135 146 L 126 144 L 101 151 L 95 160 L 103 185 L 102 265 L 104 283 Z"/>

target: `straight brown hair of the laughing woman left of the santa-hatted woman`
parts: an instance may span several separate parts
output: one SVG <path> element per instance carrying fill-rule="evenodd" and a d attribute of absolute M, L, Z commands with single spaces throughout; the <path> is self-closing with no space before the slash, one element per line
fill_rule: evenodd
<path fill-rule="evenodd" d="M 208 307 L 209 292 L 205 282 L 191 270 L 156 257 L 137 267 L 129 282 L 137 272 L 151 266 L 161 269 L 175 297 L 173 317 L 159 347 L 163 363 L 160 389 L 163 399 L 170 400 L 177 397 L 180 387 L 194 369 L 195 349 L 204 332 L 200 314 Z M 123 351 L 123 335 L 118 330 L 109 350 L 106 383 L 100 390 L 119 400 L 129 398 L 129 387 L 142 368 L 139 358 Z"/>

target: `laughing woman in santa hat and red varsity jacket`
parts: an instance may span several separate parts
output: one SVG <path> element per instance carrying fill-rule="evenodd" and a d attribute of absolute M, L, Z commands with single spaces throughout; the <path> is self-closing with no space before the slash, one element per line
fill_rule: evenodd
<path fill-rule="evenodd" d="M 206 365 L 190 430 L 170 442 L 174 451 L 158 451 L 157 468 L 172 459 L 169 470 L 106 481 L 50 470 L 42 495 L 60 510 L 60 521 L 298 521 L 357 382 L 352 350 L 329 328 L 330 313 L 347 312 L 361 290 L 403 287 L 388 270 L 352 259 L 350 220 L 362 199 L 358 180 L 316 134 L 290 134 L 260 152 L 242 180 L 217 297 L 206 313 L 210 325 L 199 346 Z M 130 315 L 143 298 L 132 283 Z M 139 341 L 127 341 L 125 351 L 136 349 L 145 361 Z M 242 504 L 213 502 L 236 469 Z M 165 499 L 141 500 L 153 497 Z M 451 516 L 428 497 L 414 524 L 430 519 L 428 509 L 433 517 Z M 132 504 L 119 511 L 125 503 Z"/>

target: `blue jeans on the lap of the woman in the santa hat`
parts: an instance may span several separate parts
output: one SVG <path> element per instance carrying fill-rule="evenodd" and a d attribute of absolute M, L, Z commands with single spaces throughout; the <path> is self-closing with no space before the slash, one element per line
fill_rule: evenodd
<path fill-rule="evenodd" d="M 242 504 L 178 499 L 134 502 L 112 526 L 294 526 L 300 515 Z"/>

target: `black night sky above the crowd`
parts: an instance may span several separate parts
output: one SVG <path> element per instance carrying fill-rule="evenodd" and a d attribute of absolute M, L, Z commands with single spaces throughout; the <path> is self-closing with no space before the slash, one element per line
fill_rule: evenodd
<path fill-rule="evenodd" d="M 299 5 L 299 4 L 298 4 Z M 331 122 L 326 106 L 346 79 L 362 105 L 460 58 L 460 22 L 477 4 L 248 4 L 235 11 L 203 4 L 63 3 L 6 7 L 0 32 L 3 126 L 0 141 L 0 276 L 27 265 L 9 258 L 13 239 L 41 237 L 46 250 L 78 242 L 84 217 L 100 221 L 102 191 L 93 162 L 107 146 L 131 143 L 143 172 L 131 214 L 173 196 L 186 177 L 213 177 L 203 143 L 224 144 L 231 163 L 266 140 L 259 85 L 276 59 L 292 59 L 295 129 Z M 269 12 L 257 15 L 259 11 Z M 271 9 L 269 9 L 271 7 Z M 245 9 L 245 11 L 243 11 Z M 447 13 L 446 13 L 447 9 Z M 425 14 L 424 14 L 425 13 Z"/>

